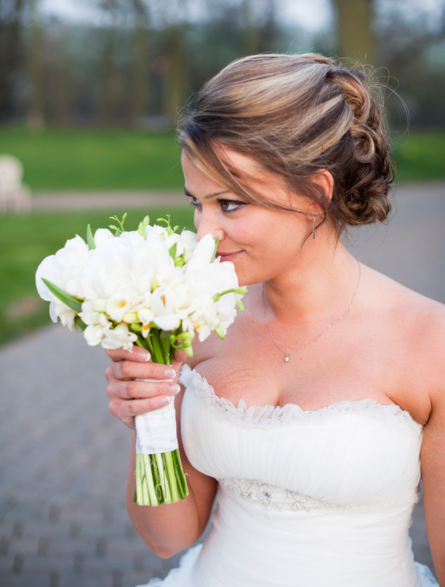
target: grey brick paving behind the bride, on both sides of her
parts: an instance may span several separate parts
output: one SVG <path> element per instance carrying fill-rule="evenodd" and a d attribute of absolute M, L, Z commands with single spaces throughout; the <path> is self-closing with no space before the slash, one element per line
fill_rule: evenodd
<path fill-rule="evenodd" d="M 444 196 L 441 184 L 399 189 L 396 218 L 351 235 L 354 253 L 445 302 Z M 2 587 L 133 587 L 177 564 L 127 519 L 130 433 L 108 412 L 107 362 L 59 325 L 0 349 Z M 422 503 L 411 535 L 432 565 Z"/>

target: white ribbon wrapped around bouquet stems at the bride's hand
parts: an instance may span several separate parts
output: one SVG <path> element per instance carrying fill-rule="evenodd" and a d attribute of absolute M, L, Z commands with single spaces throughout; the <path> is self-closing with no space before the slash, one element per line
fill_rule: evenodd
<path fill-rule="evenodd" d="M 153 381 L 159 379 L 137 379 L 137 381 Z M 168 453 L 178 448 L 176 432 L 176 413 L 174 398 L 163 408 L 136 416 L 136 453 L 158 454 Z"/>

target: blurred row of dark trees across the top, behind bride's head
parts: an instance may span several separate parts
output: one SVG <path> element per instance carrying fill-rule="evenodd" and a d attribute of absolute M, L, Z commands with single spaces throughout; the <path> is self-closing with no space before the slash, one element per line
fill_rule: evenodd
<path fill-rule="evenodd" d="M 49 16 L 42 0 L 0 0 L 0 120 L 161 129 L 237 57 L 336 49 L 388 67 L 404 84 L 413 126 L 445 126 L 445 6 L 332 0 L 336 41 L 334 27 L 313 32 L 285 20 L 283 2 L 93 0 L 99 18 L 85 24 Z M 384 68 L 376 76 L 388 81 Z M 392 104 L 400 115 L 400 100 L 389 98 L 390 112 Z"/>

